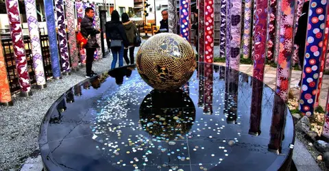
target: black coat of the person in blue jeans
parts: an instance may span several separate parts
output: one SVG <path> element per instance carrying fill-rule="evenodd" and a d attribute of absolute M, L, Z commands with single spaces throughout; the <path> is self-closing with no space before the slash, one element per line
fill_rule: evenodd
<path fill-rule="evenodd" d="M 129 42 L 127 35 L 125 34 L 125 27 L 123 27 L 121 21 L 108 21 L 105 25 L 106 29 L 106 41 L 110 48 L 110 40 L 122 40 L 123 46 L 128 47 Z"/>

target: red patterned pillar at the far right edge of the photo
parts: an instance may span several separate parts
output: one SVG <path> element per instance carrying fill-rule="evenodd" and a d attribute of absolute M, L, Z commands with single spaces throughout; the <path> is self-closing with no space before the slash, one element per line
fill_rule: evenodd
<path fill-rule="evenodd" d="M 322 88 L 322 79 L 324 77 L 324 63 L 326 62 L 326 52 L 328 49 L 328 32 L 329 32 L 329 5 L 327 5 L 327 17 L 326 17 L 326 29 L 324 31 L 324 45 L 322 48 L 322 54 L 320 57 L 320 69 L 319 69 L 319 81 L 317 81 L 317 96 L 315 100 L 315 107 L 319 105 L 319 96 Z"/>

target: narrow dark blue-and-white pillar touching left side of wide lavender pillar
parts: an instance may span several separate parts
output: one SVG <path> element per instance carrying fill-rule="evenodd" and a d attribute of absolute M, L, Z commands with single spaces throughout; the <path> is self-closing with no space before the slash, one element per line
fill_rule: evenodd
<path fill-rule="evenodd" d="M 251 0 L 249 0 L 251 2 Z M 221 38 L 219 42 L 219 57 L 226 57 L 226 0 L 221 0 Z"/>

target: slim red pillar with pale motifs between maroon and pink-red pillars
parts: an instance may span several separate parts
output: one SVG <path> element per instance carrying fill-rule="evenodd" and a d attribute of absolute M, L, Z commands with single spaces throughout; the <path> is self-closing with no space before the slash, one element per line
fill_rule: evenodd
<path fill-rule="evenodd" d="M 269 3 L 269 40 L 267 42 L 267 60 L 271 61 L 274 57 L 274 42 L 276 42 L 276 14 L 278 4 L 277 0 L 271 0 Z"/>

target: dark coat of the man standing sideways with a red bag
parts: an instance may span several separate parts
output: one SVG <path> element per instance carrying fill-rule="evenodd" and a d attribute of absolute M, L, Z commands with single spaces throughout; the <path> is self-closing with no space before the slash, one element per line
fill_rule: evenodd
<path fill-rule="evenodd" d="M 93 18 L 88 18 L 88 16 L 84 16 L 82 18 L 81 24 L 80 24 L 80 32 L 84 38 L 88 38 L 88 42 L 86 44 L 87 48 L 99 48 L 99 44 L 97 43 L 96 34 L 99 34 L 100 31 L 97 29 L 94 29 L 93 27 Z"/>

